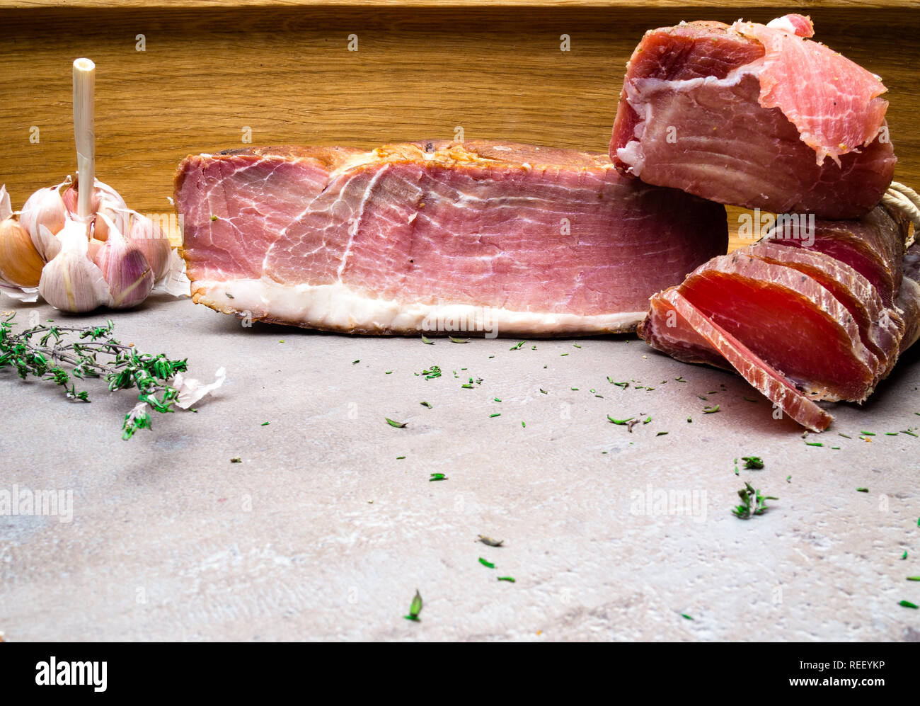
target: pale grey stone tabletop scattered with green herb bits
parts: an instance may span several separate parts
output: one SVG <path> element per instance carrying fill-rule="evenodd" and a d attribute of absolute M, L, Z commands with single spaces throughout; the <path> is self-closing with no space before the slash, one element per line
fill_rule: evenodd
<path fill-rule="evenodd" d="M 916 353 L 803 439 L 742 378 L 633 336 L 509 350 L 245 328 L 167 297 L 0 308 L 110 317 L 190 376 L 227 370 L 130 441 L 130 391 L 76 403 L 0 373 L 0 496 L 73 498 L 70 517 L 0 515 L 8 641 L 920 639 L 899 605 L 920 604 Z M 736 475 L 743 456 L 765 468 Z M 744 481 L 779 498 L 746 521 Z"/>

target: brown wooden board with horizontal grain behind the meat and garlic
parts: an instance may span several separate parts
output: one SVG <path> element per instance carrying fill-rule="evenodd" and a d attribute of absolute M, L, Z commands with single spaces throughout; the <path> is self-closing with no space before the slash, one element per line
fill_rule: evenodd
<path fill-rule="evenodd" d="M 180 0 L 176 8 L 129 0 L 113 9 L 107 0 L 0 0 L 0 182 L 19 207 L 75 168 L 70 64 L 78 56 L 98 66 L 99 178 L 133 208 L 165 211 L 179 159 L 242 146 L 246 127 L 261 145 L 372 147 L 449 138 L 462 126 L 466 139 L 605 151 L 625 64 L 646 29 L 788 11 L 748 2 L 467 4 Z M 892 5 L 808 4 L 817 39 L 883 77 L 897 178 L 916 186 L 920 12 Z M 563 34 L 569 52 L 560 51 Z M 357 52 L 348 51 L 349 35 Z"/>

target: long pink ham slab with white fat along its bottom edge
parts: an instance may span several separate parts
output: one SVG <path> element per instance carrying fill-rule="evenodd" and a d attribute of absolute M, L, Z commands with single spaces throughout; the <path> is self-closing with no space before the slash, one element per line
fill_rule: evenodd
<path fill-rule="evenodd" d="M 630 330 L 728 245 L 721 205 L 531 145 L 190 156 L 176 206 L 196 302 L 352 332 Z"/>

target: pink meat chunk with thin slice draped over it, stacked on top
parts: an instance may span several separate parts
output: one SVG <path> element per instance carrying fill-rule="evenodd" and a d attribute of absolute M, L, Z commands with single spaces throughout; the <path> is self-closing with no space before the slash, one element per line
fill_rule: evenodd
<path fill-rule="evenodd" d="M 884 87 L 793 34 L 808 33 L 806 18 L 784 20 L 647 32 L 616 112 L 610 156 L 617 168 L 775 213 L 855 218 L 879 203 L 896 161 L 882 130 Z"/>

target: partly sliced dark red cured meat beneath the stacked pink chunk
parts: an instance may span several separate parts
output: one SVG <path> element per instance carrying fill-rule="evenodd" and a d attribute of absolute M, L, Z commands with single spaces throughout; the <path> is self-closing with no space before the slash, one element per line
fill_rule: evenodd
<path fill-rule="evenodd" d="M 920 249 L 905 254 L 907 234 L 882 206 L 817 221 L 808 238 L 776 228 L 654 295 L 638 334 L 678 360 L 734 368 L 822 431 L 832 418 L 815 402 L 864 401 L 920 336 Z"/>

